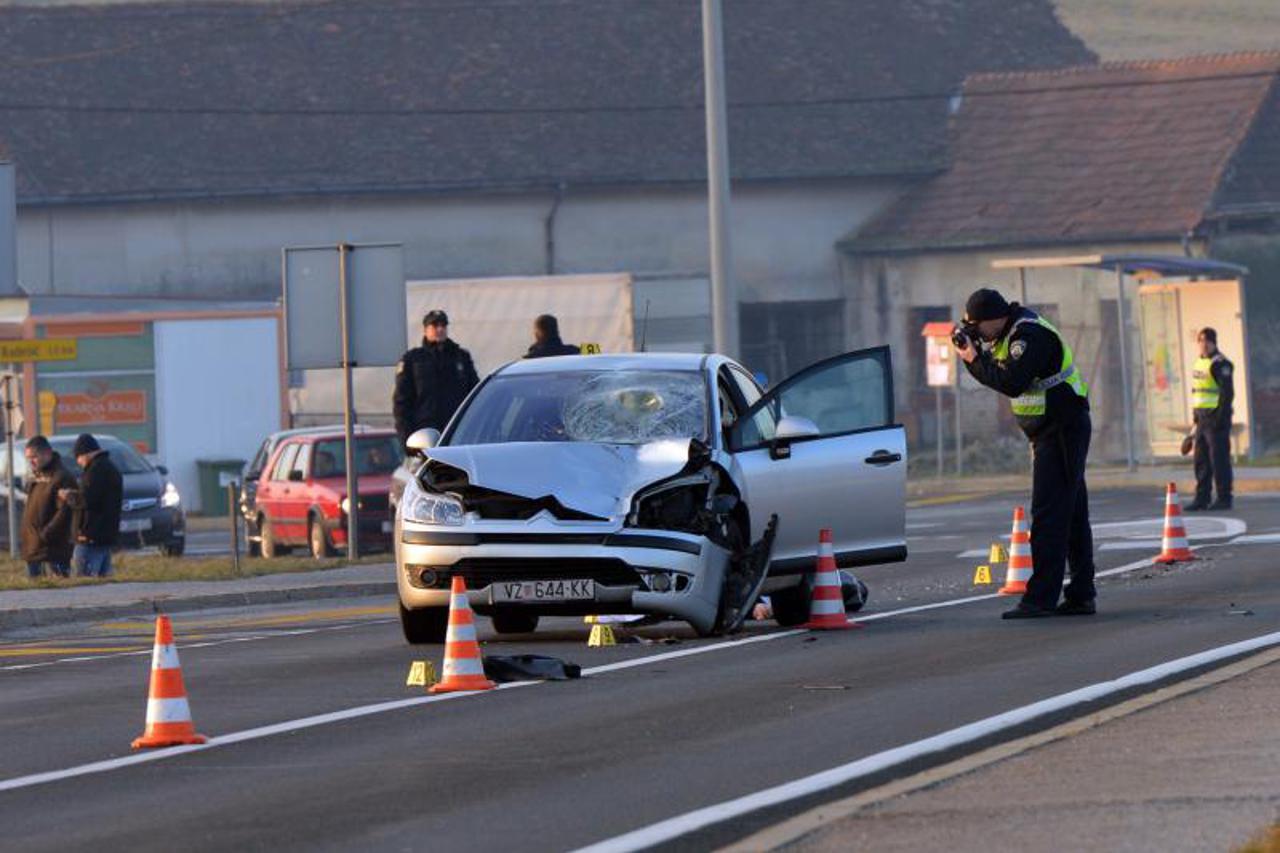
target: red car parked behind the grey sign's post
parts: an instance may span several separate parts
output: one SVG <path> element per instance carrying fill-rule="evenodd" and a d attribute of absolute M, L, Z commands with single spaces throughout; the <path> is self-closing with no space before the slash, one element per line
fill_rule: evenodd
<path fill-rule="evenodd" d="M 393 519 L 388 510 L 392 474 L 403 461 L 392 430 L 356 435 L 360 492 L 360 551 L 388 551 Z M 306 546 L 329 557 L 347 547 L 347 466 L 340 432 L 306 434 L 280 443 L 257 485 L 261 552 L 266 558 Z"/>

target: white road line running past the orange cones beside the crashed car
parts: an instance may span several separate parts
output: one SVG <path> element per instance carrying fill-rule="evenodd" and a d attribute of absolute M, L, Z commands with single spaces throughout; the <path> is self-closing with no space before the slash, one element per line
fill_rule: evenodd
<path fill-rule="evenodd" d="M 1142 569 L 1149 566 L 1149 560 L 1138 560 L 1135 562 L 1119 566 L 1116 569 L 1108 569 L 1106 571 L 1100 571 L 1098 578 L 1106 578 L 1108 575 L 1117 575 L 1125 571 L 1133 571 L 1134 569 Z M 965 598 L 952 598 L 948 601 L 934 602 L 932 605 L 918 605 L 915 607 L 902 607 L 899 610 L 891 610 L 883 613 L 869 613 L 867 616 L 859 616 L 858 621 L 869 622 L 879 619 L 890 619 L 891 616 L 904 616 L 908 613 L 919 613 L 929 610 L 938 610 L 942 607 L 956 607 L 960 605 L 969 605 L 977 601 L 987 601 L 991 598 L 997 598 L 996 593 L 986 596 L 968 596 Z M 324 629 L 305 629 L 305 630 L 324 630 Z M 300 631 L 301 633 L 301 631 Z M 778 631 L 774 634 L 758 634 L 755 637 L 748 637 L 745 639 L 726 640 L 722 643 L 709 643 L 707 646 L 695 646 L 692 648 L 678 649 L 673 652 L 662 652 L 658 654 L 649 654 L 645 657 L 637 657 L 628 661 L 617 661 L 614 663 L 605 663 L 602 666 L 590 667 L 582 670 L 582 675 L 602 675 L 604 672 L 616 672 L 618 670 L 627 670 L 637 666 L 650 666 L 653 663 L 659 663 L 664 661 L 671 661 L 681 657 L 691 657 L 694 654 L 707 654 L 709 652 L 718 652 L 726 648 L 739 648 L 741 646 L 751 646 L 754 643 L 768 643 L 772 640 L 786 639 L 788 637 L 796 637 L 804 634 L 804 629 L 794 629 L 786 631 Z M 540 684 L 540 681 L 513 681 L 509 684 L 499 685 L 499 689 L 513 688 L 513 686 L 529 686 L 534 684 Z M 64 770 L 54 770 L 42 774 L 32 774 L 28 776 L 15 776 L 8 780 L 0 780 L 0 792 L 14 790 L 18 788 L 31 788 L 32 785 L 42 785 L 45 783 L 60 781 L 63 779 L 74 779 L 77 776 L 87 776 L 91 774 L 100 774 L 109 770 L 118 770 L 120 767 L 131 767 L 133 765 L 147 763 L 151 761 L 161 761 L 164 758 L 173 758 L 177 756 L 184 756 L 189 752 L 202 752 L 205 749 L 214 749 L 216 747 L 225 747 L 233 743 L 242 743 L 244 740 L 256 740 L 259 738 L 268 738 L 276 734 L 285 734 L 289 731 L 298 731 L 301 729 L 311 729 L 320 725 L 326 725 L 330 722 L 342 722 L 344 720 L 355 720 L 357 717 L 366 717 L 375 713 L 385 713 L 388 711 L 399 711 L 402 708 L 411 708 L 420 704 L 429 704 L 431 702 L 442 702 L 445 699 L 456 699 L 463 697 L 476 697 L 486 695 L 488 690 L 481 693 L 444 693 L 439 695 L 417 697 L 412 699 L 398 699 L 394 702 L 380 702 L 378 704 L 366 704 L 355 708 L 347 708 L 344 711 L 334 711 L 330 713 L 321 713 L 311 717 L 302 717 L 301 720 L 289 720 L 285 722 L 276 722 L 269 726 L 260 726 L 257 729 L 247 729 L 244 731 L 237 731 L 227 735 L 220 735 L 216 738 L 210 738 L 207 743 L 191 745 L 191 747 L 172 747 L 169 749 L 160 749 L 156 752 L 145 752 L 133 756 L 124 756 L 122 758 L 111 758 L 108 761 L 97 761 L 88 765 L 79 765 L 77 767 L 67 767 Z"/>

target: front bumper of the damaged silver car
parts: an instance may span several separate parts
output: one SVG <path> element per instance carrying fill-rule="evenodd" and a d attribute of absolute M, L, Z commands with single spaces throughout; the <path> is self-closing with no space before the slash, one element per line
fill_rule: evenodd
<path fill-rule="evenodd" d="M 495 587 L 516 580 L 595 581 L 593 599 L 503 602 L 547 616 L 644 613 L 710 630 L 730 553 L 705 537 L 669 530 L 613 532 L 396 526 L 396 580 L 404 607 L 447 607 L 454 575 L 492 612 Z"/>

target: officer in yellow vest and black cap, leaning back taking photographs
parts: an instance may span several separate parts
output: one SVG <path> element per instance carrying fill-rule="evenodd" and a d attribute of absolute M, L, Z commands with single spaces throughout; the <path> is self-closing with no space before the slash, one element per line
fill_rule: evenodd
<path fill-rule="evenodd" d="M 969 297 L 952 341 L 974 379 L 1012 398 L 1014 418 L 1032 443 L 1034 570 L 1023 599 L 1004 619 L 1092 616 L 1097 588 L 1084 466 L 1093 428 L 1089 386 L 1071 347 L 1044 318 L 986 288 Z M 1064 592 L 1068 564 L 1071 581 Z"/>

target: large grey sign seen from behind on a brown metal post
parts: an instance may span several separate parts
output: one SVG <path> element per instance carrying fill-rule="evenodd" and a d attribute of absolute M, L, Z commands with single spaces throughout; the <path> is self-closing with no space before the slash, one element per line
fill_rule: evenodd
<path fill-rule="evenodd" d="M 282 266 L 288 369 L 343 371 L 347 557 L 355 560 L 360 483 L 351 374 L 390 366 L 404 351 L 404 256 L 399 243 L 305 246 L 285 248 Z"/>

